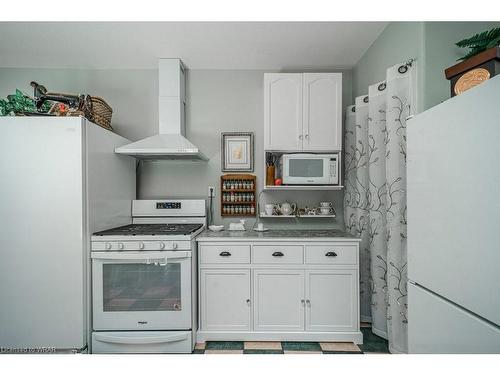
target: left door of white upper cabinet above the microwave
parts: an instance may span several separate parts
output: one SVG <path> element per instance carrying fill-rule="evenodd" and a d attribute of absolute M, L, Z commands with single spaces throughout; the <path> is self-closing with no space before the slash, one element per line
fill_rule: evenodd
<path fill-rule="evenodd" d="M 302 149 L 302 74 L 264 74 L 264 148 Z"/>

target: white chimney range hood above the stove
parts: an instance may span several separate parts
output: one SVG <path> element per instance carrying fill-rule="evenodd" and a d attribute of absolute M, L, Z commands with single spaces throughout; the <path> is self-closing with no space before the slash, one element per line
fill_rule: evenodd
<path fill-rule="evenodd" d="M 184 135 L 185 68 L 180 59 L 160 59 L 158 67 L 159 134 L 115 149 L 142 160 L 208 160 Z"/>

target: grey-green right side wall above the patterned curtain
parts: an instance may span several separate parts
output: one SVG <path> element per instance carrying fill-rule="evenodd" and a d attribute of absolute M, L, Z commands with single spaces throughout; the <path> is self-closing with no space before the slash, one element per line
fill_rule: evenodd
<path fill-rule="evenodd" d="M 499 26 L 499 22 L 391 22 L 354 67 L 353 96 L 367 94 L 369 85 L 385 79 L 388 67 L 411 57 L 417 59 L 417 112 L 429 109 L 450 98 L 444 70 L 465 54 L 455 43 Z"/>

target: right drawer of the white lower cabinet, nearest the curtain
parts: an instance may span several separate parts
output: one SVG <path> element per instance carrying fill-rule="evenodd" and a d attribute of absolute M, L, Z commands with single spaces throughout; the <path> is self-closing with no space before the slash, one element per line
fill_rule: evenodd
<path fill-rule="evenodd" d="M 356 264 L 356 245 L 307 245 L 307 264 Z"/>

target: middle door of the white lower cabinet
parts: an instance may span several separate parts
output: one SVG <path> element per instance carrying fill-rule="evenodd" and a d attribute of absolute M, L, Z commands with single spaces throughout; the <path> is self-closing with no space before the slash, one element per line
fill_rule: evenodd
<path fill-rule="evenodd" d="M 254 270 L 254 329 L 304 330 L 304 271 Z"/>

